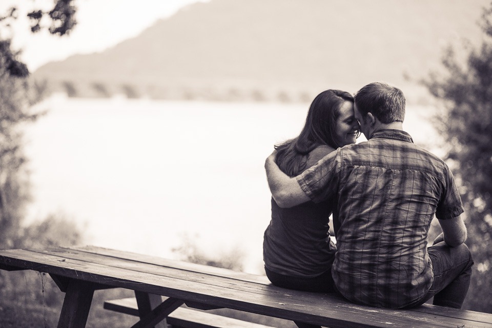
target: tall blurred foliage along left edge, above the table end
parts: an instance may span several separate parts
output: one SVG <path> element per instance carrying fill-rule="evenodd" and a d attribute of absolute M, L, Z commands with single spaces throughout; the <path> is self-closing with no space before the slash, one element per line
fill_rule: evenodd
<path fill-rule="evenodd" d="M 9 42 L 0 41 L 0 248 L 14 245 L 29 199 L 22 127 L 38 116 L 30 113 L 38 91 L 15 63 Z"/>

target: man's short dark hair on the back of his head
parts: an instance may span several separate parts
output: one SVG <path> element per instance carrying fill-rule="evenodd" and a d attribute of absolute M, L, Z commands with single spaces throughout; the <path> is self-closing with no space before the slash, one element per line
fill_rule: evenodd
<path fill-rule="evenodd" d="M 397 87 L 374 82 L 362 87 L 355 95 L 355 104 L 365 117 L 371 112 L 381 123 L 403 122 L 405 96 Z"/>

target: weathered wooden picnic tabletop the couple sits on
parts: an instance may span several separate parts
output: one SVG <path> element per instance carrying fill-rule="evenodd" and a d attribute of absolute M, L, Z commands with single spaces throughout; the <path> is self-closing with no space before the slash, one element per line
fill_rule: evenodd
<path fill-rule="evenodd" d="M 0 269 L 29 269 L 56 279 L 77 279 L 333 328 L 490 327 L 492 315 L 423 305 L 378 309 L 333 294 L 277 288 L 264 276 L 116 250 L 82 247 L 0 251 Z"/>

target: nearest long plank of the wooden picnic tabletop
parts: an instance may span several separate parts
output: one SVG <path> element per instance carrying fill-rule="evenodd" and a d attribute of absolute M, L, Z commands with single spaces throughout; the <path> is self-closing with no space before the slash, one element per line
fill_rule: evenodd
<path fill-rule="evenodd" d="M 1 251 L 0 263 L 333 328 L 345 327 L 347 318 L 351 318 L 353 327 L 407 327 L 409 320 L 419 327 L 456 328 L 462 324 L 466 324 L 467 328 L 492 327 L 492 323 L 463 322 L 462 319 L 432 314 L 359 306 L 340 302 L 330 295 L 290 291 L 261 283 L 238 283 L 240 286 L 248 283 L 255 285 L 255 288 L 244 291 L 238 290 L 234 284 L 216 286 L 206 281 L 187 281 L 124 268 L 115 270 L 115 267 L 105 264 L 34 251 Z M 140 265 L 147 266 L 143 263 Z"/>

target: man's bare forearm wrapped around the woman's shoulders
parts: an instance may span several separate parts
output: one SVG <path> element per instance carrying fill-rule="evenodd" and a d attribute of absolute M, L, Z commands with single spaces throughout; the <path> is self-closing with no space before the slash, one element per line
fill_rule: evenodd
<path fill-rule="evenodd" d="M 310 200 L 299 186 L 297 179 L 289 177 L 278 168 L 275 154 L 276 151 L 268 156 L 265 161 L 265 170 L 268 186 L 277 205 L 281 208 L 290 208 Z"/>

